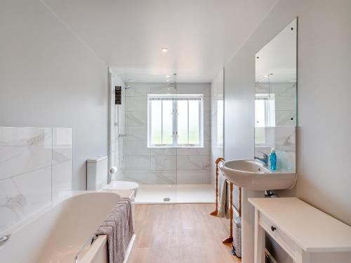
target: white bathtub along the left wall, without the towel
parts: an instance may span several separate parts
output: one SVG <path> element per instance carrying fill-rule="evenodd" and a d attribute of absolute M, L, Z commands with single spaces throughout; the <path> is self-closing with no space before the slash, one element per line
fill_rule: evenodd
<path fill-rule="evenodd" d="M 0 262 L 73 263 L 77 252 L 119 199 L 120 196 L 112 192 L 80 192 L 51 204 L 0 234 L 11 235 L 0 246 Z M 100 236 L 82 253 L 79 262 L 104 262 L 106 252 L 106 237 Z"/>

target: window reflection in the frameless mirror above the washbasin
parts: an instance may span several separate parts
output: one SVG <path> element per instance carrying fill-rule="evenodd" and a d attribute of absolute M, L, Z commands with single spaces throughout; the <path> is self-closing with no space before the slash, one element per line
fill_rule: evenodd
<path fill-rule="evenodd" d="M 274 94 L 258 93 L 255 97 L 255 144 L 270 145 L 267 128 L 275 126 Z"/>

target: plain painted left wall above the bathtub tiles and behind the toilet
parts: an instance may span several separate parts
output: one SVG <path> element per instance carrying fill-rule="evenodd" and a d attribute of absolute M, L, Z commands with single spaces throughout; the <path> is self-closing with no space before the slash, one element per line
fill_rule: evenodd
<path fill-rule="evenodd" d="M 73 189 L 107 154 L 107 66 L 37 0 L 1 1 L 1 126 L 73 128 Z"/>

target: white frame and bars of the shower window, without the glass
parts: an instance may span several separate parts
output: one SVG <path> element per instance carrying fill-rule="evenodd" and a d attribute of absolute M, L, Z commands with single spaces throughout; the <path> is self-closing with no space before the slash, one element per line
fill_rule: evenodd
<path fill-rule="evenodd" d="M 150 103 L 152 98 L 170 98 L 173 102 L 173 144 L 152 144 L 151 140 L 151 121 L 152 107 Z M 199 98 L 199 144 L 178 144 L 178 99 L 179 98 Z M 161 100 L 162 101 L 162 100 Z M 189 142 L 189 101 L 187 100 L 187 140 Z M 163 122 L 163 111 L 161 111 L 161 127 Z M 162 136 L 161 131 L 161 136 Z M 204 147 L 204 94 L 170 94 L 170 93 L 148 93 L 147 94 L 147 148 L 203 148 Z"/>

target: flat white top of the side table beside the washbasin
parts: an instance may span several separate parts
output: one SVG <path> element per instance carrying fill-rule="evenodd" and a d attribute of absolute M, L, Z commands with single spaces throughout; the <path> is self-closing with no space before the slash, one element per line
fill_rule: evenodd
<path fill-rule="evenodd" d="M 249 202 L 306 252 L 351 251 L 351 227 L 298 198 Z"/>

